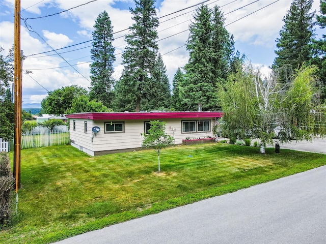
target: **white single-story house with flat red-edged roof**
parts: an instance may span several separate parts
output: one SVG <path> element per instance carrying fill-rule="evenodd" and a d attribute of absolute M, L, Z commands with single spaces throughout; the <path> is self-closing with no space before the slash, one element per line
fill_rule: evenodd
<path fill-rule="evenodd" d="M 85 112 L 70 118 L 70 143 L 91 156 L 140 149 L 150 120 L 166 122 L 166 133 L 182 139 L 212 137 L 223 112 Z"/>

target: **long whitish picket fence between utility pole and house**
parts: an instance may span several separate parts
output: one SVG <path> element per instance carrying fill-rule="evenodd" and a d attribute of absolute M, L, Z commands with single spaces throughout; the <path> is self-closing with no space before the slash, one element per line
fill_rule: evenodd
<path fill-rule="evenodd" d="M 65 133 L 26 133 L 21 136 L 21 149 L 70 144 L 69 132 Z"/>

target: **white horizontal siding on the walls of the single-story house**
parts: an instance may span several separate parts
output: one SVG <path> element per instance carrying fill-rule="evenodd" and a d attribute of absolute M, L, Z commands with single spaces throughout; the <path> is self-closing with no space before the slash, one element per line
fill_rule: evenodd
<path fill-rule="evenodd" d="M 75 131 L 73 130 L 73 120 L 76 121 Z M 200 133 L 182 133 L 182 121 L 185 120 L 210 120 L 210 132 Z M 88 133 L 84 133 L 84 121 L 88 121 Z M 104 123 L 124 122 L 124 132 L 104 133 Z M 99 152 L 110 153 L 110 151 L 137 149 L 142 146 L 144 133 L 144 122 L 149 120 L 86 120 L 86 119 L 70 119 L 70 140 L 71 145 L 83 150 L 89 155 L 99 155 Z M 213 136 L 212 127 L 214 120 L 209 118 L 181 119 L 172 118 L 165 119 L 166 133 L 174 136 L 175 144 L 182 144 L 182 139 L 186 137 L 199 138 Z M 93 136 L 92 127 L 98 126 L 100 131 Z M 97 153 L 96 153 L 97 152 Z"/>

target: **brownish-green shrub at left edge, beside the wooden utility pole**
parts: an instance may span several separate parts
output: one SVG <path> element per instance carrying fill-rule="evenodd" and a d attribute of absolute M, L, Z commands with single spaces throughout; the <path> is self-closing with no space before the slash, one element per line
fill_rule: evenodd
<path fill-rule="evenodd" d="M 9 156 L 0 154 L 0 226 L 6 225 L 10 220 L 10 191 L 14 186 L 14 177 L 10 176 Z"/>

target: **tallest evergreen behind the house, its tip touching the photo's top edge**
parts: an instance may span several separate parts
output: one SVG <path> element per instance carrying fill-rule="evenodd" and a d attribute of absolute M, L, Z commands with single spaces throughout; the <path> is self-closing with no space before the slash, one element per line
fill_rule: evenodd
<path fill-rule="evenodd" d="M 154 0 L 134 0 L 135 8 L 130 8 L 134 24 L 131 33 L 126 35 L 127 47 L 122 54 L 124 70 L 116 86 L 115 104 L 119 110 L 140 111 L 141 102 L 146 102 L 150 83 L 154 82 L 153 70 L 158 46 L 158 19 Z M 129 109 L 128 109 L 129 110 Z"/>

